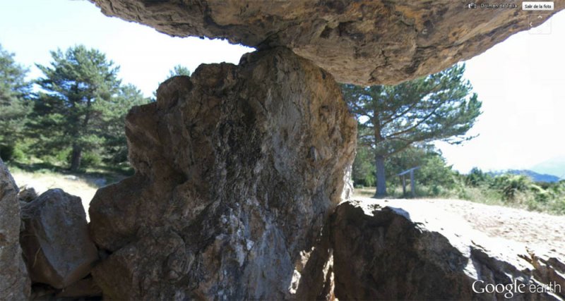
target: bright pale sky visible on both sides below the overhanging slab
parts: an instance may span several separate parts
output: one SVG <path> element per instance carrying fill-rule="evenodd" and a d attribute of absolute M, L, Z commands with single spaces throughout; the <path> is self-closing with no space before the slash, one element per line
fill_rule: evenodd
<path fill-rule="evenodd" d="M 437 144 L 459 171 L 530 168 L 565 156 L 565 12 L 548 22 L 549 35 L 520 32 L 467 61 L 465 78 L 483 102 L 471 132 L 479 137 L 463 146 Z M 147 96 L 177 64 L 194 70 L 201 63 L 237 63 L 253 50 L 169 37 L 107 18 L 88 1 L 69 0 L 0 1 L 0 44 L 30 67 L 30 78 L 41 75 L 33 64 L 48 64 L 51 50 L 76 44 L 100 49 L 121 66 L 123 81 Z"/>

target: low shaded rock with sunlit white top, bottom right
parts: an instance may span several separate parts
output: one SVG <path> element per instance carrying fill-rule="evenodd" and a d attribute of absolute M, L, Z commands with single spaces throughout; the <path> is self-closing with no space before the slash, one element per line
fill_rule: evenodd
<path fill-rule="evenodd" d="M 444 214 L 444 212 L 441 212 Z M 474 293 L 488 283 L 524 283 L 513 300 L 565 299 L 565 264 L 467 223 L 383 201 L 340 204 L 332 216 L 335 296 L 340 300 L 504 300 Z M 530 285 L 561 285 L 531 293 Z M 539 286 L 536 286 L 538 288 Z M 547 287 L 546 287 L 547 288 Z"/>

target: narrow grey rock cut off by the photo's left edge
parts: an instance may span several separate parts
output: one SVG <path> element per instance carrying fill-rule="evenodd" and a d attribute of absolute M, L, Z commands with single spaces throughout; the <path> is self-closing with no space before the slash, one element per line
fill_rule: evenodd
<path fill-rule="evenodd" d="M 28 300 L 30 288 L 20 249 L 18 186 L 0 159 L 0 300 Z"/>

